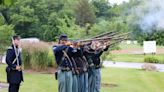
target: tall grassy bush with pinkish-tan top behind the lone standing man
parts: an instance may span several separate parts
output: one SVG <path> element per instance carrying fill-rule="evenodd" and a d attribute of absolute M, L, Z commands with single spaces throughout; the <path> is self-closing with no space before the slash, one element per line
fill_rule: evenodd
<path fill-rule="evenodd" d="M 47 43 L 23 43 L 22 49 L 25 69 L 41 71 L 55 66 L 52 50 Z"/>

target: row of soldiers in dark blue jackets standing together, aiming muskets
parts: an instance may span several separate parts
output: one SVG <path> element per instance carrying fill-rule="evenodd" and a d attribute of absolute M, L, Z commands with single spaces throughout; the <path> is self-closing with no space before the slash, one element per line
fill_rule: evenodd
<path fill-rule="evenodd" d="M 59 37 L 59 44 L 53 46 L 58 92 L 100 92 L 100 56 L 108 46 L 99 47 L 96 41 L 80 46 L 76 41 L 70 44 L 66 35 Z"/>

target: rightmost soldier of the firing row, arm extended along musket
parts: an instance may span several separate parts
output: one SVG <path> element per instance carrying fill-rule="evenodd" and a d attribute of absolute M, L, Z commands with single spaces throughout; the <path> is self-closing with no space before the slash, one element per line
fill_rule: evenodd
<path fill-rule="evenodd" d="M 89 92 L 100 92 L 101 75 L 100 75 L 100 56 L 103 51 L 107 51 L 108 46 L 101 44 L 98 41 L 92 41 L 90 45 L 84 47 L 84 54 L 89 63 L 88 81 Z"/>

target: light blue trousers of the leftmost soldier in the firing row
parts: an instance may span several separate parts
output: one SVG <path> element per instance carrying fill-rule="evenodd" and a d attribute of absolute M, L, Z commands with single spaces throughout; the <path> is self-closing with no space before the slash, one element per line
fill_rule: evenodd
<path fill-rule="evenodd" d="M 72 72 L 58 70 L 58 92 L 73 92 L 72 84 Z"/>

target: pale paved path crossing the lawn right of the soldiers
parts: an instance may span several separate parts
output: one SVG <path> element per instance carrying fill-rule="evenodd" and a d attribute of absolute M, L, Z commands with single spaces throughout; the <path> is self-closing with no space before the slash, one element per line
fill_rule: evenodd
<path fill-rule="evenodd" d="M 119 68 L 135 68 L 141 69 L 141 66 L 144 63 L 133 63 L 133 62 L 113 62 L 113 61 L 104 61 L 103 65 L 105 67 L 119 67 Z M 154 64 L 159 72 L 164 72 L 164 64 Z"/>

